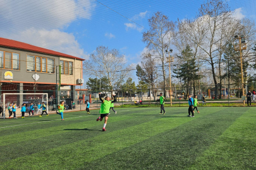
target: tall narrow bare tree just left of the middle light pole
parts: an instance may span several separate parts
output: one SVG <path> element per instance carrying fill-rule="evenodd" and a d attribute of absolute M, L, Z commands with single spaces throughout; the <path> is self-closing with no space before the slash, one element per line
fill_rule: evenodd
<path fill-rule="evenodd" d="M 166 97 L 166 71 L 165 71 L 165 50 L 171 45 L 171 37 L 174 33 L 174 23 L 169 21 L 168 16 L 161 12 L 155 13 L 148 20 L 149 30 L 143 32 L 144 43 L 147 43 L 147 48 L 152 51 L 157 62 L 161 63 L 162 76 L 164 79 L 164 97 Z"/>

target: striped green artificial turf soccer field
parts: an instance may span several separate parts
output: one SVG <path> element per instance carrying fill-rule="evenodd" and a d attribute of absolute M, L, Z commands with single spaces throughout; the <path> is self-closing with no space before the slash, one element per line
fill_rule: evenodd
<path fill-rule="evenodd" d="M 255 108 L 159 110 L 0 120 L 0 169 L 256 169 Z"/>

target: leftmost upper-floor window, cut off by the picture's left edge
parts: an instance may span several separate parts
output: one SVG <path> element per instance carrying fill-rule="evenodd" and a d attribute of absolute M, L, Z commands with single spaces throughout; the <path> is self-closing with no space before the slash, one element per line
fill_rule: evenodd
<path fill-rule="evenodd" d="M 2 69 L 20 69 L 20 54 L 0 51 L 0 67 Z"/>

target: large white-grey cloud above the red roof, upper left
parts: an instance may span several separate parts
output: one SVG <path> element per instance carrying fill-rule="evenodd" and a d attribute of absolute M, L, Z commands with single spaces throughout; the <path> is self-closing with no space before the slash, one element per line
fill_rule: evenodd
<path fill-rule="evenodd" d="M 78 19 L 90 20 L 93 1 L 0 1 L 0 37 L 88 58 L 75 36 L 61 29 Z"/>

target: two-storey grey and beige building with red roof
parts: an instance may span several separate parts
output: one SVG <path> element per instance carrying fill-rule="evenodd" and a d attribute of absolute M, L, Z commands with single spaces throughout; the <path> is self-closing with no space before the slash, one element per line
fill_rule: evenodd
<path fill-rule="evenodd" d="M 56 99 L 60 77 L 75 99 L 75 86 L 83 82 L 83 59 L 6 38 L 0 38 L 0 67 L 1 94 L 48 93 Z"/>

